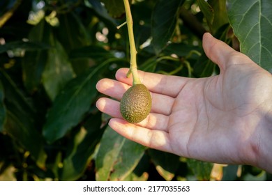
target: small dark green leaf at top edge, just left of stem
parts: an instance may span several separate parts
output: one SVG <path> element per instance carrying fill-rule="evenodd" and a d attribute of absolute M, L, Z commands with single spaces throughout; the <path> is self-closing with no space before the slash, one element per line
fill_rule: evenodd
<path fill-rule="evenodd" d="M 112 17 L 121 17 L 125 13 L 125 6 L 123 6 L 123 1 L 121 0 L 100 0 L 105 4 L 109 15 Z M 131 0 L 130 4 L 131 4 Z"/>

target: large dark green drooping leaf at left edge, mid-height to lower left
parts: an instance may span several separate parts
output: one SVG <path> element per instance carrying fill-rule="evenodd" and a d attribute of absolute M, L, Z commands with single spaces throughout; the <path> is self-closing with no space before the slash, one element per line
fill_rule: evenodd
<path fill-rule="evenodd" d="M 44 168 L 47 156 L 43 150 L 43 137 L 36 128 L 36 122 L 40 119 L 6 72 L 0 72 L 0 80 L 5 89 L 7 110 L 3 132 L 18 141 L 24 150 L 29 151 L 36 164 Z"/>

